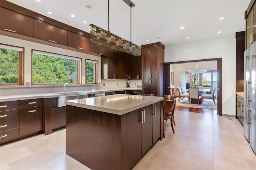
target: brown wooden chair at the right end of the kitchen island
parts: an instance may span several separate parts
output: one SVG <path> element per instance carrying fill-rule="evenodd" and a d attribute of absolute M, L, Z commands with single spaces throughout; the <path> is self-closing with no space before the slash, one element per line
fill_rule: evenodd
<path fill-rule="evenodd" d="M 173 115 L 174 115 L 174 110 L 175 110 L 175 100 L 162 100 L 163 104 L 163 136 L 164 135 L 164 121 L 170 119 L 171 121 L 171 126 L 172 126 L 172 131 L 175 133 L 174 128 L 173 128 Z"/>

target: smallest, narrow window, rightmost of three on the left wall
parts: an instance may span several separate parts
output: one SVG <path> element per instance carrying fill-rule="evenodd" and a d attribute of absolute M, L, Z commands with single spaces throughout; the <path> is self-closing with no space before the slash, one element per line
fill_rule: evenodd
<path fill-rule="evenodd" d="M 98 83 L 98 61 L 86 60 L 86 84 Z"/>

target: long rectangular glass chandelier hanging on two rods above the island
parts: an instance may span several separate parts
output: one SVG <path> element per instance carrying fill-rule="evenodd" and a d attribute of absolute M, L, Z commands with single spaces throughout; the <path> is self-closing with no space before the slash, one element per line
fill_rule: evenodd
<path fill-rule="evenodd" d="M 141 55 L 141 47 L 132 43 L 132 7 L 135 5 L 130 0 L 123 0 L 128 6 L 130 6 L 130 41 L 123 39 L 109 31 L 109 0 L 108 0 L 108 31 L 90 24 L 90 41 L 98 43 L 124 53 L 129 53 L 134 56 Z"/>

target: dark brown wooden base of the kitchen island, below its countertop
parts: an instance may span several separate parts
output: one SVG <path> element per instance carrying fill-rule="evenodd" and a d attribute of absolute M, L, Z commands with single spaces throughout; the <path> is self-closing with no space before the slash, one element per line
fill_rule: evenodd
<path fill-rule="evenodd" d="M 160 139 L 161 127 L 160 102 L 124 115 L 67 105 L 66 154 L 94 170 L 128 170 Z"/>

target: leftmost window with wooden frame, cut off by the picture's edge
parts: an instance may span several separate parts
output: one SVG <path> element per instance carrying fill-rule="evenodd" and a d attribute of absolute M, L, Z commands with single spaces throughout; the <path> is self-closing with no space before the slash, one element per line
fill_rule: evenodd
<path fill-rule="evenodd" d="M 23 48 L 0 44 L 0 84 L 23 85 Z"/>

